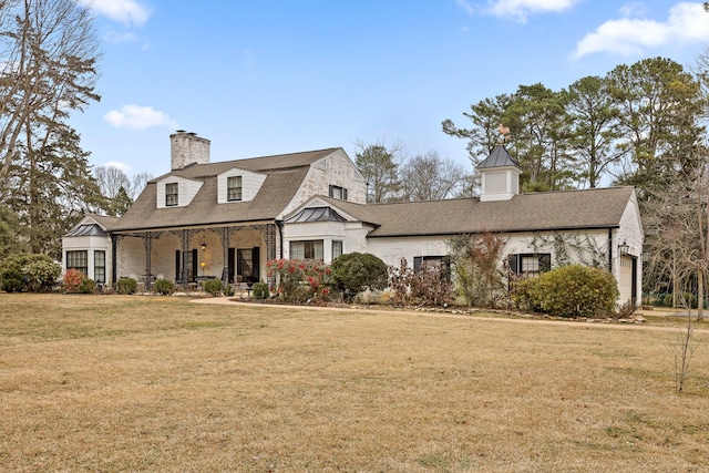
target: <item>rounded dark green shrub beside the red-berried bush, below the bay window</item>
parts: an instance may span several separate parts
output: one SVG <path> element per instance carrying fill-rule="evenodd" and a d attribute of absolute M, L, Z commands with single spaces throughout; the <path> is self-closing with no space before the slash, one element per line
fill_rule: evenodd
<path fill-rule="evenodd" d="M 332 260 L 332 286 L 350 299 L 364 289 L 381 290 L 389 280 L 384 261 L 369 253 L 348 253 Z"/>

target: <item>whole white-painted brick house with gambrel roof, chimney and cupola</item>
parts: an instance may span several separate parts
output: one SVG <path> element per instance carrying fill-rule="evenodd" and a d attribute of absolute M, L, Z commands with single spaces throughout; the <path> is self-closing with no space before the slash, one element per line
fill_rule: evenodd
<path fill-rule="evenodd" d="M 643 226 L 635 189 L 521 194 L 503 146 L 477 166 L 480 197 L 367 204 L 342 148 L 210 163 L 209 141 L 171 135 L 172 171 L 121 218 L 85 216 L 63 238 L 63 266 L 112 285 L 133 277 L 193 284 L 266 280 L 266 261 L 371 253 L 389 265 L 442 259 L 448 239 L 494 233 L 501 265 L 534 276 L 567 263 L 605 267 L 620 301 L 639 304 Z"/>

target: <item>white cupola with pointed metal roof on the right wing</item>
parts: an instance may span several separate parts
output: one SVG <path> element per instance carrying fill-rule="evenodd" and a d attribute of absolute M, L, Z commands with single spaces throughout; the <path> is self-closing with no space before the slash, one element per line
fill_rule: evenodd
<path fill-rule="evenodd" d="M 497 145 L 475 168 L 482 187 L 480 202 L 510 200 L 520 194 L 522 166 L 503 145 Z"/>

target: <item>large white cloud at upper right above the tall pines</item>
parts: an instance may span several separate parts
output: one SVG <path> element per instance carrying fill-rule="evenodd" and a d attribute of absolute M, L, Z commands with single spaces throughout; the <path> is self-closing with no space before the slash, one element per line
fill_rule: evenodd
<path fill-rule="evenodd" d="M 634 9 L 624 9 L 628 14 Z M 669 11 L 665 22 L 643 18 L 623 18 L 603 23 L 576 44 L 574 58 L 596 52 L 633 55 L 645 48 L 681 45 L 709 41 L 709 13 L 701 3 L 680 2 Z"/>

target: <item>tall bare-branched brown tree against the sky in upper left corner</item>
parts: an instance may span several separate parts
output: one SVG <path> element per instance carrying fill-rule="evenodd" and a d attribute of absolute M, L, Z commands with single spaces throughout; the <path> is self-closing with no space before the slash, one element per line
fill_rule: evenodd
<path fill-rule="evenodd" d="M 94 93 L 97 37 L 74 0 L 0 1 L 0 186 L 21 154 L 49 146 L 52 133 Z"/>

